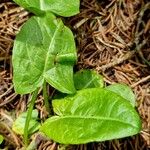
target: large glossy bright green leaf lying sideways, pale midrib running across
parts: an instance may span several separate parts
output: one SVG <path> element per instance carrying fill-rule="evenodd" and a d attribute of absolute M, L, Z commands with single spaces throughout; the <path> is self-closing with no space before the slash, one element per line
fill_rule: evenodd
<path fill-rule="evenodd" d="M 114 92 L 101 88 L 78 91 L 53 100 L 58 116 L 49 118 L 40 131 L 63 144 L 105 141 L 137 134 L 141 121 L 135 109 Z"/>

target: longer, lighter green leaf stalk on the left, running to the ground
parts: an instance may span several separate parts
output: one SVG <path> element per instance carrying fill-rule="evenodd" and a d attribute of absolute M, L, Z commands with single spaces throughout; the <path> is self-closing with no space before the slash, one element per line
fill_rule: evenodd
<path fill-rule="evenodd" d="M 38 89 L 36 89 L 31 97 L 31 102 L 29 104 L 29 108 L 27 110 L 27 118 L 26 118 L 26 122 L 25 122 L 25 128 L 24 128 L 24 142 L 25 142 L 25 146 L 28 146 L 28 129 L 29 129 L 29 123 L 32 117 L 32 111 L 33 111 L 33 107 L 34 107 L 34 103 L 35 100 L 37 98 L 38 95 Z"/>

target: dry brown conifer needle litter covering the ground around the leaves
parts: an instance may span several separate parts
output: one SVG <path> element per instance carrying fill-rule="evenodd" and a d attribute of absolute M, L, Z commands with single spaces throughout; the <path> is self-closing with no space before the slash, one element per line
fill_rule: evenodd
<path fill-rule="evenodd" d="M 28 95 L 18 96 L 12 84 L 12 46 L 20 26 L 29 13 L 10 0 L 0 1 L 0 134 L 3 146 L 21 149 L 22 137 L 12 122 L 26 110 Z M 103 143 L 71 146 L 71 150 L 144 150 L 150 147 L 150 2 L 148 0 L 82 0 L 80 14 L 67 18 L 77 49 L 76 69 L 94 69 L 106 84 L 125 83 L 134 91 L 136 107 L 142 119 L 140 134 Z M 43 119 L 43 98 L 36 108 Z M 38 137 L 39 138 L 39 137 Z M 58 149 L 56 143 L 43 140 L 39 150 Z M 0 147 L 1 148 L 1 147 Z"/>

